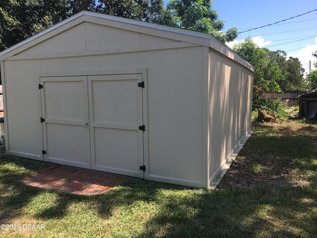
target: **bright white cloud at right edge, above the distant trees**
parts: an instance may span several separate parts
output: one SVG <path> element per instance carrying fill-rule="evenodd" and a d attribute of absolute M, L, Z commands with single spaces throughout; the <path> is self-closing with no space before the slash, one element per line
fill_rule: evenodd
<path fill-rule="evenodd" d="M 314 62 L 317 61 L 317 58 L 312 56 L 314 52 L 317 51 L 317 37 L 315 38 L 314 45 L 307 45 L 304 49 L 298 51 L 295 54 L 289 54 L 287 57 L 298 58 L 301 61 L 303 68 L 305 68 L 306 73 L 309 73 L 309 60 L 311 60 L 311 70 L 315 70 Z"/>

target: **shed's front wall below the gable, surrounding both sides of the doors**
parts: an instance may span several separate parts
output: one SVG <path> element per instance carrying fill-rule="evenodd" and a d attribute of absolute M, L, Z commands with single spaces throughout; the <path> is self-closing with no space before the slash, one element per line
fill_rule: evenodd
<path fill-rule="evenodd" d="M 45 47 L 36 46 L 34 49 L 42 48 Z M 5 61 L 5 72 L 8 72 L 5 73 L 6 82 L 9 83 L 6 94 L 9 102 L 6 110 L 9 122 L 8 153 L 18 152 L 18 155 L 23 155 L 27 151 L 34 156 L 26 157 L 42 159 L 41 95 L 38 89 L 40 76 L 78 75 L 79 72 L 84 74 L 85 69 L 89 74 L 109 69 L 120 72 L 120 69 L 129 71 L 129 68 L 147 68 L 148 179 L 202 186 L 202 49 L 189 47 L 126 54 Z M 32 70 L 14 71 L 13 68 L 20 64 Z M 20 82 L 22 78 L 25 81 Z M 13 84 L 22 85 L 24 89 L 19 87 L 16 90 Z M 27 99 L 24 100 L 25 104 L 32 106 L 21 105 L 22 109 L 19 108 L 19 111 L 12 110 L 16 107 L 14 98 Z M 32 121 L 31 126 L 19 116 L 21 112 L 28 115 Z M 26 135 L 28 138 L 25 138 Z"/>

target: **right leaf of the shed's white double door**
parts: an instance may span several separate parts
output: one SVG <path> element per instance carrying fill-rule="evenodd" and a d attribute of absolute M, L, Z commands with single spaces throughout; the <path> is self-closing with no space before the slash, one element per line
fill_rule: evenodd
<path fill-rule="evenodd" d="M 88 76 L 92 169 L 143 178 L 139 82 L 142 74 Z"/>

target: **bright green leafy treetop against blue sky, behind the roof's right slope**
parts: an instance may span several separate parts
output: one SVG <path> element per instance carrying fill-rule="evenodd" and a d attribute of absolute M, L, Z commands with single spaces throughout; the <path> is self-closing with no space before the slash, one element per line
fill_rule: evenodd
<path fill-rule="evenodd" d="M 233 41 L 238 36 L 237 28 L 222 32 L 224 21 L 218 19 L 211 5 L 212 0 L 170 0 L 167 9 L 181 28 L 210 33 L 223 43 Z"/>

